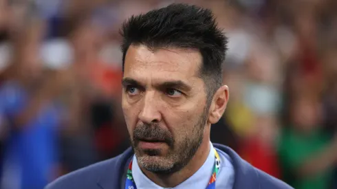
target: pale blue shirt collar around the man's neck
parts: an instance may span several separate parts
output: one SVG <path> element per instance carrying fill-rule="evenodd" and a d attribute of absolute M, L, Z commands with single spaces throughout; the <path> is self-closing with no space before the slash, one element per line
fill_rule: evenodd
<path fill-rule="evenodd" d="M 208 181 L 213 173 L 213 166 L 215 162 L 215 153 L 213 144 L 210 142 L 210 152 L 208 157 L 202 167 L 195 172 L 191 177 L 186 179 L 186 181 L 182 182 L 175 187 L 175 189 L 184 189 L 184 188 L 195 188 L 195 189 L 205 189 L 208 185 Z M 133 155 L 133 164 L 132 164 L 132 175 L 135 181 L 135 185 L 138 189 L 163 189 L 161 186 L 157 186 L 157 184 L 153 183 L 149 178 L 147 178 L 140 167 L 138 166 L 137 159 L 135 155 Z"/>

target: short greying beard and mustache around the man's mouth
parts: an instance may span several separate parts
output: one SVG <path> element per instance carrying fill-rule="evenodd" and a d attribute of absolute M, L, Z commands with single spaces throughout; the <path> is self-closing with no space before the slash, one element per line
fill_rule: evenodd
<path fill-rule="evenodd" d="M 177 133 L 183 136 L 179 141 L 156 123 L 136 126 L 131 144 L 140 167 L 160 175 L 172 174 L 184 168 L 202 144 L 207 110 L 204 110 L 198 122 L 191 128 L 192 133 Z M 161 149 L 139 148 L 138 143 L 144 138 L 163 141 L 168 146 L 166 155 L 161 156 Z"/>

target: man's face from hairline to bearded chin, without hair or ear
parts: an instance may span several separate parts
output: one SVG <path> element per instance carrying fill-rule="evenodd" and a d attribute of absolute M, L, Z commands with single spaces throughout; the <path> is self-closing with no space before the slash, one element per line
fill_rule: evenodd
<path fill-rule="evenodd" d="M 191 49 L 131 45 L 124 63 L 122 109 L 138 164 L 173 173 L 191 160 L 208 120 L 202 56 Z"/>

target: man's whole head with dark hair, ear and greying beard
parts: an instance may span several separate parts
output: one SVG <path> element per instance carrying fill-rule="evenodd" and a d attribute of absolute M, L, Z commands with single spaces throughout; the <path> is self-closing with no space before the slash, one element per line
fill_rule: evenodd
<path fill-rule="evenodd" d="M 132 16 L 122 36 L 122 109 L 135 155 L 146 170 L 173 173 L 208 145 L 226 109 L 227 38 L 210 10 L 184 4 Z"/>

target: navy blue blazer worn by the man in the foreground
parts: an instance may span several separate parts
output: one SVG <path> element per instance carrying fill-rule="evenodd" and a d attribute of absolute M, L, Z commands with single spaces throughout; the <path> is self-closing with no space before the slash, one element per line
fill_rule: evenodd
<path fill-rule="evenodd" d="M 227 146 L 220 144 L 213 144 L 213 146 L 232 158 L 235 168 L 233 189 L 293 189 L 283 181 L 254 168 Z M 60 177 L 45 189 L 124 189 L 127 166 L 132 157 L 133 151 L 129 148 L 117 157 Z"/>

